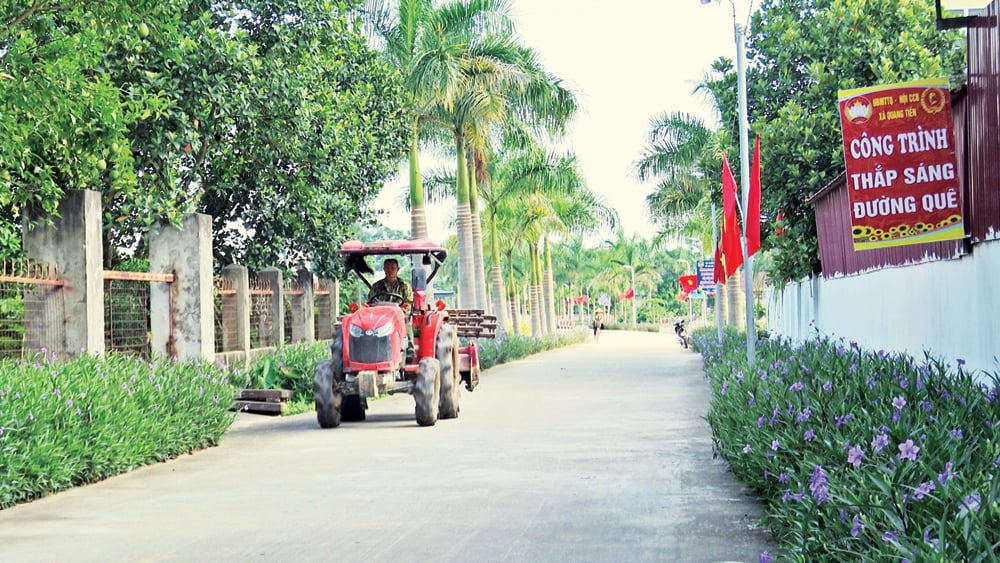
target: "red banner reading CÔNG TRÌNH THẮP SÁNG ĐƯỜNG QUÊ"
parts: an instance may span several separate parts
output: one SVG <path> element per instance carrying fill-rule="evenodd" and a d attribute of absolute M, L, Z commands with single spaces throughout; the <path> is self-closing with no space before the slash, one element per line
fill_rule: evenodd
<path fill-rule="evenodd" d="M 960 239 L 948 80 L 841 90 L 855 250 Z"/>

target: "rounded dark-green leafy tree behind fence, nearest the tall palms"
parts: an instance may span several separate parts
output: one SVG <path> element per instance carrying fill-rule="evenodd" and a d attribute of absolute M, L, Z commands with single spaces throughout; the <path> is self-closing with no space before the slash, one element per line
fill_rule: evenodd
<path fill-rule="evenodd" d="M 246 34 L 260 64 L 251 109 L 232 123 L 230 142 L 214 139 L 218 153 L 203 179 L 216 229 L 242 227 L 225 231 L 234 246 L 217 247 L 232 249 L 227 260 L 310 260 L 332 271 L 339 242 L 367 218 L 405 153 L 402 78 L 343 4 L 252 0 L 215 9 L 227 29 Z"/>

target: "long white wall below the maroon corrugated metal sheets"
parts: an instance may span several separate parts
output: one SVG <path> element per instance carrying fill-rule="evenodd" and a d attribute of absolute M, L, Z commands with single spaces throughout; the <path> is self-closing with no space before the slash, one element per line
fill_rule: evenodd
<path fill-rule="evenodd" d="M 969 256 L 769 288 L 768 328 L 799 342 L 844 337 L 870 350 L 924 351 L 1000 373 L 1000 241 Z"/>

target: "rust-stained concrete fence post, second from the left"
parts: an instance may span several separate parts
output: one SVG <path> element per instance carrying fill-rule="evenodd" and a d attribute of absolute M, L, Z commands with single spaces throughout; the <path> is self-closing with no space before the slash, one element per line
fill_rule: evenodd
<path fill-rule="evenodd" d="M 174 275 L 173 283 L 150 284 L 152 352 L 214 359 L 212 218 L 188 215 L 179 229 L 156 225 L 149 241 L 149 269 Z"/>

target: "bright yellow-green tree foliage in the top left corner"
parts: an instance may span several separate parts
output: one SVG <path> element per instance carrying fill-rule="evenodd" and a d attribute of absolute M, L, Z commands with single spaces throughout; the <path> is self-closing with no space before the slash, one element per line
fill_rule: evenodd
<path fill-rule="evenodd" d="M 54 213 L 66 189 L 133 193 L 133 174 L 110 175 L 131 154 L 109 152 L 127 146 L 133 116 L 100 61 L 154 6 L 0 2 L 0 232 L 19 233 L 23 208 Z"/>

